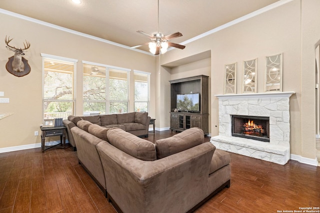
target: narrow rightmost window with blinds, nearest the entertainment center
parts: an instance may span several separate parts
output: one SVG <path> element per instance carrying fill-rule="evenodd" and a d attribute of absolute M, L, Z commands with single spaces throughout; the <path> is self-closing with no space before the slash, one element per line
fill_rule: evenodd
<path fill-rule="evenodd" d="M 134 111 L 147 112 L 149 106 L 150 73 L 134 70 Z"/>

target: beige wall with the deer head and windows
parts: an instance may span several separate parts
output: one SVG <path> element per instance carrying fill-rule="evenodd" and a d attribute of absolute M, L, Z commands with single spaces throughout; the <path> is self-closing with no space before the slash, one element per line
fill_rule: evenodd
<path fill-rule="evenodd" d="M 76 114 L 82 115 L 82 60 L 150 72 L 151 83 L 155 81 L 155 59 L 129 49 L 93 40 L 69 32 L 50 28 L 38 23 L 0 14 L 0 91 L 10 103 L 0 104 L 0 114 L 13 115 L 0 120 L 0 148 L 40 143 L 42 123 L 42 57 L 41 53 L 77 59 L 76 70 Z M 5 69 L 7 59 L 13 52 L 5 48 L 4 38 L 14 39 L 12 45 L 20 47 L 26 39 L 31 46 L 25 58 L 31 72 L 16 77 Z M 131 72 L 133 73 L 133 72 Z M 151 88 L 154 94 L 154 88 Z M 132 103 L 133 96 L 130 96 Z M 131 111 L 133 107 L 130 107 Z M 154 100 L 150 106 L 150 116 L 154 117 Z M 39 136 L 34 136 L 39 131 Z"/>

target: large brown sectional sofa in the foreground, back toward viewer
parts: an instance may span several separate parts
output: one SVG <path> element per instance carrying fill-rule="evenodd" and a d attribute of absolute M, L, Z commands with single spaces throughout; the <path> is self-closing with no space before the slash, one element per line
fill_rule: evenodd
<path fill-rule="evenodd" d="M 230 155 L 203 143 L 199 128 L 155 144 L 87 121 L 71 132 L 79 162 L 118 212 L 192 212 L 230 186 Z"/>

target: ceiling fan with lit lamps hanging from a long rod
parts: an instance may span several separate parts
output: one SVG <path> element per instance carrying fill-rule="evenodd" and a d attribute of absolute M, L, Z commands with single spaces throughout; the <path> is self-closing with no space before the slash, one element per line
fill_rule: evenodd
<path fill-rule="evenodd" d="M 158 0 L 158 30 L 157 30 L 157 32 L 153 33 L 152 35 L 149 35 L 141 30 L 138 30 L 136 32 L 147 36 L 148 38 L 151 39 L 151 41 L 147 42 L 147 43 L 139 44 L 136 46 L 131 46 L 130 48 L 137 48 L 137 47 L 140 47 L 143 45 L 149 45 L 149 51 L 154 55 L 158 55 L 158 54 L 160 54 L 160 52 L 162 54 L 165 53 L 168 46 L 172 46 L 172 47 L 179 48 L 179 49 L 185 48 L 184 45 L 172 43 L 169 41 L 170 39 L 182 36 L 182 33 L 175 32 L 173 34 L 164 36 L 162 33 L 159 32 L 159 0 Z"/>

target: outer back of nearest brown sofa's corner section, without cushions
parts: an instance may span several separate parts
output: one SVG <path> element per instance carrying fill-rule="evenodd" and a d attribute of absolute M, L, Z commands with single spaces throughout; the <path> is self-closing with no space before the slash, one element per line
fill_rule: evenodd
<path fill-rule="evenodd" d="M 96 147 L 107 193 L 122 212 L 187 212 L 207 196 L 215 150 L 209 142 L 156 161 L 138 160 L 106 142 Z"/>

